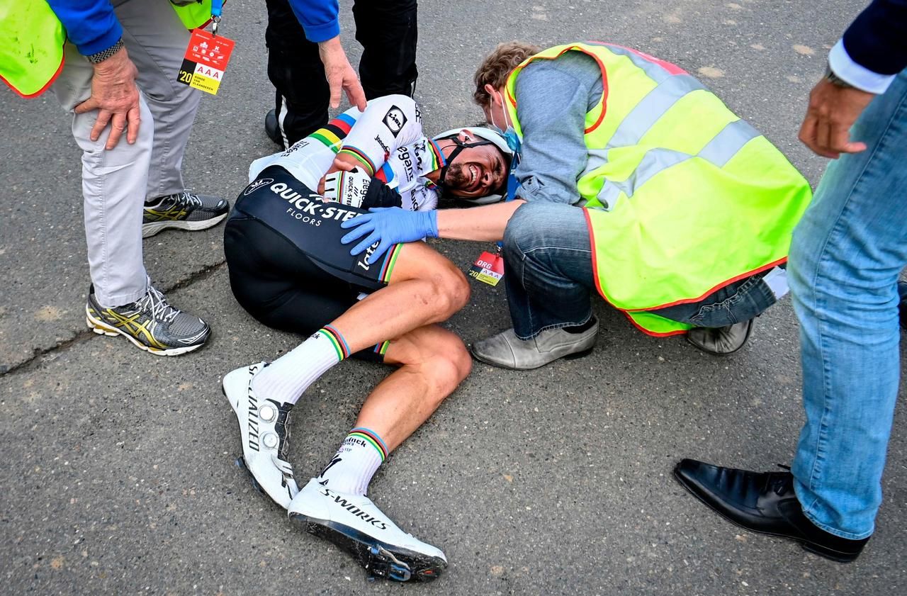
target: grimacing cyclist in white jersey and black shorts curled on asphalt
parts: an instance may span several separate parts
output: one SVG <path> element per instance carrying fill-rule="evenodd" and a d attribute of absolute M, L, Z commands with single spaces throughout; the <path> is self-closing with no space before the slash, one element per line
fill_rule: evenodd
<path fill-rule="evenodd" d="M 290 519 L 352 554 L 371 577 L 430 581 L 447 565 L 444 552 L 401 531 L 366 492 L 385 457 L 469 374 L 463 341 L 437 325 L 463 308 L 469 285 L 423 242 L 352 257 L 340 224 L 373 207 L 428 220 L 442 191 L 501 200 L 511 157 L 489 129 L 428 139 L 413 100 L 387 95 L 254 161 L 227 221 L 224 253 L 239 304 L 269 327 L 309 336 L 270 364 L 224 377 L 243 461 Z M 334 458 L 299 488 L 288 461 L 290 412 L 347 357 L 398 368 L 366 397 Z"/>

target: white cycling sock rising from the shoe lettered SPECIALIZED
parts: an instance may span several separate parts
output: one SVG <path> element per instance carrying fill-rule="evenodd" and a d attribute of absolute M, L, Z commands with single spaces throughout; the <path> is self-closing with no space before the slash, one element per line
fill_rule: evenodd
<path fill-rule="evenodd" d="M 334 327 L 327 325 L 265 366 L 252 379 L 252 389 L 258 396 L 273 399 L 278 404 L 296 404 L 308 386 L 348 356 L 346 339 Z"/>

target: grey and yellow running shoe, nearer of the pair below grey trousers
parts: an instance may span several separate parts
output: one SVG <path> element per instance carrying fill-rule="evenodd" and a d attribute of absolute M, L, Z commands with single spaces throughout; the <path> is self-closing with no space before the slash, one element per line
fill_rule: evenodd
<path fill-rule="evenodd" d="M 178 356 L 200 348 L 211 334 L 208 323 L 178 308 L 151 284 L 148 293 L 132 304 L 103 308 L 88 290 L 85 322 L 98 335 L 121 335 L 156 356 Z"/>

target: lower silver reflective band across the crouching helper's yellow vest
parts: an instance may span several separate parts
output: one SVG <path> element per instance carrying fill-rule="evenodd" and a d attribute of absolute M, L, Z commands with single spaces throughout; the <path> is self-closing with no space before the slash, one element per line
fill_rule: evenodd
<path fill-rule="evenodd" d="M 601 201 L 604 209 L 610 210 L 614 207 L 621 192 L 630 198 L 639 187 L 651 180 L 654 176 L 682 161 L 687 161 L 692 157 L 710 161 L 716 167 L 722 168 L 727 161 L 730 161 L 730 159 L 736 155 L 737 151 L 743 149 L 743 146 L 746 145 L 747 142 L 750 142 L 757 136 L 759 136 L 759 132 L 757 132 L 755 128 L 750 126 L 747 122 L 736 120 L 735 122 L 728 122 L 727 126 L 725 126 L 721 132 L 718 132 L 711 141 L 707 142 L 706 146 L 695 156 L 671 149 L 651 149 L 646 151 L 642 160 L 639 161 L 636 170 L 630 174 L 627 180 L 605 181 L 605 184 L 601 187 L 601 191 L 599 191 L 597 197 Z M 602 157 L 607 158 L 607 154 Z M 606 161 L 607 159 L 605 159 L 605 162 Z M 602 163 L 603 162 L 600 161 L 600 165 Z"/>

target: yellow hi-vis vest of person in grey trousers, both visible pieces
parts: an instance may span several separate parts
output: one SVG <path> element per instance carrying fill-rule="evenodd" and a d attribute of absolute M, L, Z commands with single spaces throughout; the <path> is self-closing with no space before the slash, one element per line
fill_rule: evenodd
<path fill-rule="evenodd" d="M 187 29 L 211 18 L 211 0 L 173 5 Z M 0 0 L 0 79 L 23 97 L 36 97 L 63 70 L 66 32 L 46 0 Z M 176 76 L 176 74 L 174 74 Z"/>

